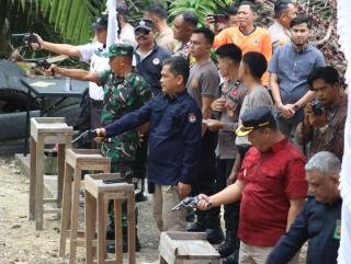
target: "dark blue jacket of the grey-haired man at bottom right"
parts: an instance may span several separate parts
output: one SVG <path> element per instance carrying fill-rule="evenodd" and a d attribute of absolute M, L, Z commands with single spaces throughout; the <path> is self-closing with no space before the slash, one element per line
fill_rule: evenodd
<path fill-rule="evenodd" d="M 332 205 L 308 196 L 295 222 L 269 255 L 265 264 L 286 264 L 308 240 L 306 264 L 337 264 L 341 198 Z"/>

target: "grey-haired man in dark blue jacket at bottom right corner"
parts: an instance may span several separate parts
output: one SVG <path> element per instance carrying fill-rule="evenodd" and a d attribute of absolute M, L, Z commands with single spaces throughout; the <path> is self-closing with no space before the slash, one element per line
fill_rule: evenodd
<path fill-rule="evenodd" d="M 286 264 L 307 240 L 307 264 L 337 264 L 341 164 L 335 154 L 322 151 L 312 157 L 305 169 L 310 195 L 288 232 L 274 246 L 267 264 Z"/>

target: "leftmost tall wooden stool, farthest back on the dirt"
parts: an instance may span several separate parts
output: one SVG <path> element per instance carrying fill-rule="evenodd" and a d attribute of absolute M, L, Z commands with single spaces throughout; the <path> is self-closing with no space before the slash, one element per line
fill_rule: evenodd
<path fill-rule="evenodd" d="M 67 126 L 64 117 L 31 118 L 31 176 L 30 176 L 30 220 L 35 219 L 36 230 L 43 230 L 44 213 L 57 213 L 60 209 L 44 210 L 44 203 L 57 203 L 63 197 L 65 149 L 69 148 L 73 129 Z M 57 149 L 57 198 L 44 199 L 44 146 L 58 144 Z"/>

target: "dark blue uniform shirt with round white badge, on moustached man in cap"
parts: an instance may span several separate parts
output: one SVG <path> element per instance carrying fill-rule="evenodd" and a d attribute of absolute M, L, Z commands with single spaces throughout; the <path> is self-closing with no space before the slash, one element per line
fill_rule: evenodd
<path fill-rule="evenodd" d="M 158 94 L 162 91 L 160 79 L 162 62 L 165 59 L 170 57 L 167 49 L 159 47 L 155 44 L 152 51 L 147 55 L 144 59 L 136 51 L 134 53 L 136 58 L 136 71 L 144 77 L 146 82 L 151 87 L 154 94 Z"/>

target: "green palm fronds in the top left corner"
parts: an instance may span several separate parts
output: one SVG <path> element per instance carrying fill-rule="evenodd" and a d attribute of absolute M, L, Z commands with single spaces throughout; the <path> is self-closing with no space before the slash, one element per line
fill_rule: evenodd
<path fill-rule="evenodd" d="M 7 53 L 10 33 L 37 32 L 46 39 L 88 42 L 91 23 L 105 0 L 1 0 L 0 50 Z"/>

